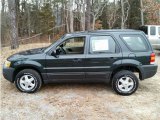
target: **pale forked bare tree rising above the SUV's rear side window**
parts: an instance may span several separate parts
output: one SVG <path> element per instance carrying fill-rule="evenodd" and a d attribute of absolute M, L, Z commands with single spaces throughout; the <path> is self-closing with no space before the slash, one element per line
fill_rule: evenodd
<path fill-rule="evenodd" d="M 121 0 L 121 29 L 125 28 L 125 23 L 128 19 L 128 14 L 129 14 L 129 9 L 130 9 L 130 4 L 128 0 Z"/>

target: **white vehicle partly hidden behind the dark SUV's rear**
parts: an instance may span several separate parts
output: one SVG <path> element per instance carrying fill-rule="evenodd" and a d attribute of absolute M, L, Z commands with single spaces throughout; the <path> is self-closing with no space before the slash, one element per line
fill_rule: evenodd
<path fill-rule="evenodd" d="M 145 32 L 153 48 L 160 50 L 160 25 L 145 25 L 139 29 Z"/>

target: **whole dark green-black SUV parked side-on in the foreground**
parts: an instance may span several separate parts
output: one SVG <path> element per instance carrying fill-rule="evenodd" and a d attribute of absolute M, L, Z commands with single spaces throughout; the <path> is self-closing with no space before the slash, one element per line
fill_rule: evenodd
<path fill-rule="evenodd" d="M 27 93 L 37 91 L 42 83 L 106 82 L 118 94 L 130 95 L 138 88 L 138 78 L 156 72 L 151 44 L 136 30 L 66 34 L 49 47 L 10 56 L 3 67 L 4 77 Z"/>

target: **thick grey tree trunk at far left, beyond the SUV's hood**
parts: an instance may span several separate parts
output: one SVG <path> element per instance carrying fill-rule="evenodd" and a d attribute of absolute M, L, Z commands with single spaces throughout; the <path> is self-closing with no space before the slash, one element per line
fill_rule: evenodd
<path fill-rule="evenodd" d="M 11 49 L 16 49 L 19 47 L 19 44 L 15 0 L 8 0 L 8 8 L 10 18 Z"/>

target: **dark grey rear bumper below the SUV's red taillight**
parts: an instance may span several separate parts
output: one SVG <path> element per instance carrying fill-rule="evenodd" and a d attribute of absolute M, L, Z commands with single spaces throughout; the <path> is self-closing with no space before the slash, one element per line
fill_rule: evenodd
<path fill-rule="evenodd" d="M 157 73 L 157 65 L 143 65 L 141 67 L 141 80 L 153 77 Z"/>

